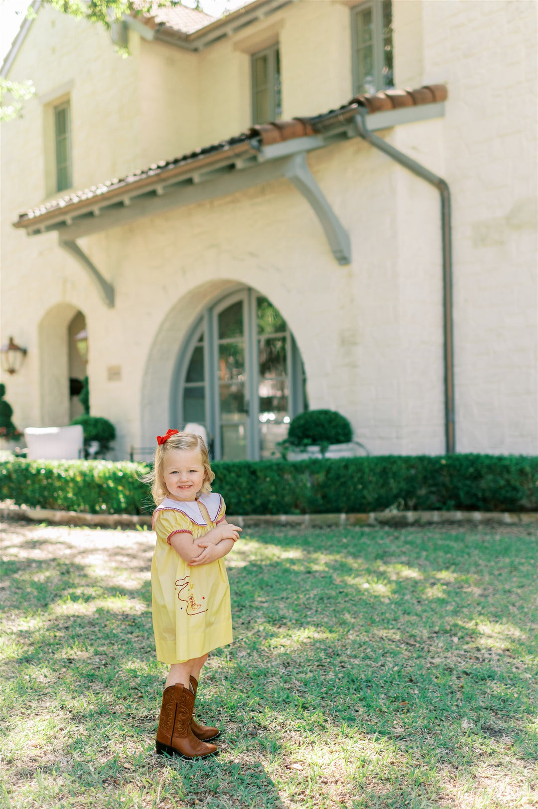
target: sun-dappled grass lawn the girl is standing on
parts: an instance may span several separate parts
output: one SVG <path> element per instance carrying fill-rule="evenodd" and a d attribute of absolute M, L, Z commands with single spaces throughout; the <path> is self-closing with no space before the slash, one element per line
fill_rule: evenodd
<path fill-rule="evenodd" d="M 530 530 L 249 530 L 202 672 L 220 755 L 156 756 L 152 534 L 3 531 L 0 805 L 537 807 Z"/>

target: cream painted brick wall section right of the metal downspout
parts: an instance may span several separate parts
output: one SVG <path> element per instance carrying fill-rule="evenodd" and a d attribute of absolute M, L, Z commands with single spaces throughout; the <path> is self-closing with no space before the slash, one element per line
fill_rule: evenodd
<path fill-rule="evenodd" d="M 425 82 L 450 94 L 458 447 L 536 452 L 536 4 L 426 2 L 423 20 Z"/>

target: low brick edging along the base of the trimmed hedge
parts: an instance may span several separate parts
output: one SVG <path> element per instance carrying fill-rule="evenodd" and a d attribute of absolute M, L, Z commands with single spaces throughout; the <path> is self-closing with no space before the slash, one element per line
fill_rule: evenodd
<path fill-rule="evenodd" d="M 151 518 L 130 514 L 82 514 L 77 511 L 22 508 L 0 508 L 0 518 L 23 520 L 32 523 L 54 525 L 100 526 L 106 528 L 151 527 Z M 345 527 L 345 526 L 394 526 L 406 525 L 536 525 L 536 511 L 372 511 L 371 514 L 299 514 L 299 515 L 228 515 L 230 523 L 241 527 L 296 526 L 296 527 Z"/>

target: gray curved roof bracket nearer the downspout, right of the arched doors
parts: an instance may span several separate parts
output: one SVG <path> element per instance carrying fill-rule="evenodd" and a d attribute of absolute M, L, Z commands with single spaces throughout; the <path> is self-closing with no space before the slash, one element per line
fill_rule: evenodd
<path fill-rule="evenodd" d="M 290 158 L 286 166 L 284 175 L 294 184 L 303 197 L 311 205 L 317 218 L 320 220 L 321 227 L 325 231 L 328 239 L 328 244 L 333 251 L 338 264 L 351 263 L 351 242 L 349 240 L 348 232 L 341 224 L 337 214 L 334 213 L 333 208 L 329 205 L 327 197 L 325 197 L 320 186 L 316 183 L 307 164 L 307 156 L 304 152 L 294 155 Z"/>

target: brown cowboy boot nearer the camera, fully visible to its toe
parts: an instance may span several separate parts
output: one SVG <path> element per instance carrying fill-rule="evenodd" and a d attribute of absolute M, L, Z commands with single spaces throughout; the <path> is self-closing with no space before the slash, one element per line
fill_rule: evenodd
<path fill-rule="evenodd" d="M 190 688 L 180 683 L 164 689 L 163 704 L 159 716 L 159 729 L 155 749 L 162 756 L 181 758 L 203 758 L 216 754 L 214 744 L 205 744 L 191 731 L 193 721 L 194 694 Z"/>

